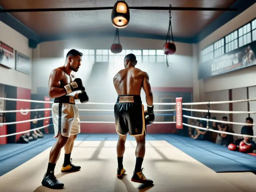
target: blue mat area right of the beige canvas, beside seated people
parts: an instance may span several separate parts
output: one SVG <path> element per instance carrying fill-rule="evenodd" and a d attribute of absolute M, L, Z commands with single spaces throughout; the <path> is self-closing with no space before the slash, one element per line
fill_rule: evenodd
<path fill-rule="evenodd" d="M 198 141 L 178 135 L 154 135 L 193 157 L 217 173 L 256 171 L 256 157 L 217 145 L 209 141 Z"/>

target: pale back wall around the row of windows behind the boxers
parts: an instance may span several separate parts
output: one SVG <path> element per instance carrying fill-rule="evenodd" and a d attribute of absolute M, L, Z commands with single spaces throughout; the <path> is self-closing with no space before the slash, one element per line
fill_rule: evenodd
<path fill-rule="evenodd" d="M 141 38 L 120 38 L 123 49 L 163 49 L 164 40 L 141 39 Z M 36 93 L 37 87 L 48 87 L 49 73 L 54 68 L 62 66 L 64 49 L 109 49 L 113 43 L 112 38 L 98 39 L 73 39 L 63 41 L 51 41 L 41 43 L 33 51 L 33 82 L 32 92 Z M 184 43 L 175 43 L 177 51 L 169 60 L 169 67 L 166 63 L 138 63 L 136 67 L 146 71 L 150 76 L 152 87 L 193 87 L 193 50 L 192 45 Z M 87 82 L 94 63 L 82 62 L 77 77 Z M 101 64 L 100 64 L 101 65 Z M 94 66 L 97 67 L 97 66 Z M 99 76 L 105 74 L 105 84 L 113 87 L 113 76 L 123 69 L 123 63 L 111 63 L 108 67 L 97 67 Z M 103 71 L 101 71 L 103 70 Z M 106 73 L 107 70 L 108 72 Z M 90 82 L 92 83 L 92 82 Z"/>

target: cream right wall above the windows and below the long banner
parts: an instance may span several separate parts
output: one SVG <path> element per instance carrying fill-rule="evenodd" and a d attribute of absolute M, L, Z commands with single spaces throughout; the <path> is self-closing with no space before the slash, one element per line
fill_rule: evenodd
<path fill-rule="evenodd" d="M 238 29 L 244 24 L 248 23 L 250 20 L 256 17 L 255 15 L 256 3 L 251 7 L 246 9 L 244 12 L 239 14 L 237 17 L 230 20 L 228 23 L 214 31 L 212 34 L 207 36 L 204 40 L 199 43 L 199 50 L 207 47 L 213 42 L 225 37 L 232 31 Z M 199 58 L 200 52 L 199 52 Z M 225 90 L 225 89 L 236 89 L 248 86 L 256 85 L 256 75 L 255 72 L 256 67 L 250 67 L 247 69 L 241 69 L 238 71 L 222 74 L 216 77 L 208 78 L 202 80 L 204 83 L 204 91 L 217 91 L 217 90 Z"/>

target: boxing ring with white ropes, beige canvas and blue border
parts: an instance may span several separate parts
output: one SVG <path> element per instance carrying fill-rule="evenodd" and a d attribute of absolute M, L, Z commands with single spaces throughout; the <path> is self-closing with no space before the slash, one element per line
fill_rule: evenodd
<path fill-rule="evenodd" d="M 48 101 L 22 100 L 0 98 L 10 101 L 53 103 Z M 210 129 L 208 127 L 198 127 L 183 123 L 182 118 L 196 119 L 207 122 L 220 122 L 228 124 L 248 125 L 246 123 L 236 123 L 219 121 L 207 118 L 182 115 L 182 111 L 210 112 L 210 113 L 256 113 L 247 111 L 214 111 L 197 110 L 186 108 L 193 105 L 213 105 L 230 102 L 249 102 L 253 100 L 221 101 L 221 102 L 199 102 L 199 103 L 154 103 L 154 105 L 176 105 L 176 109 L 154 110 L 157 115 L 161 111 L 175 112 L 176 121 L 184 126 L 194 127 L 201 130 L 208 130 L 216 133 L 226 133 L 236 136 L 241 134 L 228 133 Z M 85 105 L 112 105 L 115 103 L 87 103 Z M 78 109 L 81 103 L 77 103 Z M 28 109 L 0 111 L 1 113 L 16 113 L 28 111 L 50 111 L 47 109 Z M 106 109 L 80 109 L 84 111 L 114 111 Z M 43 117 L 19 122 L 0 123 L 0 126 L 10 124 L 20 124 L 35 120 L 50 119 Z M 173 122 L 158 122 L 154 124 L 176 124 Z M 82 124 L 114 124 L 114 122 L 81 121 Z M 252 124 L 256 125 L 256 124 Z M 0 135 L 0 138 L 28 133 L 32 130 L 40 130 L 48 127 L 45 125 L 23 132 Z M 112 126 L 114 129 L 114 125 Z M 152 127 L 148 126 L 147 131 Z M 1 127 L 0 127 L 1 129 Z M 154 128 L 155 129 L 155 128 Z M 150 132 L 150 131 L 148 131 Z M 45 134 L 45 137 L 29 142 L 28 144 L 6 144 L 0 145 L 0 191 L 2 192 L 39 192 L 54 191 L 41 186 L 41 180 L 47 169 L 49 152 L 56 138 L 53 134 Z M 256 137 L 256 136 L 252 136 Z M 255 191 L 254 182 L 256 175 L 256 157 L 236 151 L 229 151 L 227 147 L 217 145 L 209 141 L 198 141 L 190 137 L 176 134 L 147 134 L 146 154 L 142 167 L 147 178 L 154 181 L 154 186 L 143 186 L 131 182 L 131 176 L 135 166 L 136 142 L 133 137 L 127 136 L 126 149 L 123 158 L 123 165 L 126 174 L 122 179 L 116 177 L 117 158 L 116 143 L 118 134 L 92 134 L 80 133 L 74 143 L 71 154 L 74 164 L 80 165 L 81 170 L 74 173 L 61 173 L 60 168 L 64 160 L 64 150 L 62 149 L 60 158 L 56 164 L 55 175 L 58 180 L 64 183 L 61 191 L 233 191 L 250 192 Z"/>

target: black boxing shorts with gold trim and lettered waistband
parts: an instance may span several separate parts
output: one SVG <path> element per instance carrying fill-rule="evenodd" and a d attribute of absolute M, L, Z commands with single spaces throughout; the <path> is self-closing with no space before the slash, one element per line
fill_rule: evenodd
<path fill-rule="evenodd" d="M 119 135 L 146 135 L 144 106 L 140 95 L 118 95 L 114 106 L 115 130 Z"/>

